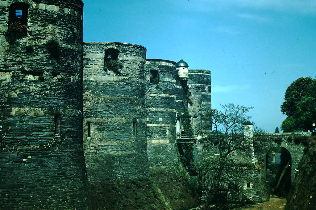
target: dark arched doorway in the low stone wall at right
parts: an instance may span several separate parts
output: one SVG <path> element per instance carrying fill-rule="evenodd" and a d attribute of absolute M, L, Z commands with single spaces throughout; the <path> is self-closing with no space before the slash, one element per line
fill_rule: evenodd
<path fill-rule="evenodd" d="M 291 188 L 292 158 L 289 150 L 274 147 L 266 154 L 266 184 L 272 197 L 286 197 Z"/>

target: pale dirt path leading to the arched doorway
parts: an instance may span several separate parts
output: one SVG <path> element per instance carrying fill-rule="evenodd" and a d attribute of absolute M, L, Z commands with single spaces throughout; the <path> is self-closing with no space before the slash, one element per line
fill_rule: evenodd
<path fill-rule="evenodd" d="M 283 198 L 270 198 L 270 201 L 264 203 L 254 204 L 248 207 L 235 208 L 233 210 L 280 210 L 284 209 L 286 205 L 286 199 Z"/>

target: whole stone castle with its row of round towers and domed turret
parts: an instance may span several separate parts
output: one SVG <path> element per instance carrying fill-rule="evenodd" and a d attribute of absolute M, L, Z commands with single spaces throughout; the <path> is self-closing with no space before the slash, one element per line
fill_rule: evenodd
<path fill-rule="evenodd" d="M 181 121 L 197 126 L 211 106 L 210 71 L 82 43 L 81 0 L 0 11 L 1 207 L 88 209 L 88 182 L 178 162 L 177 142 L 192 141 Z"/>

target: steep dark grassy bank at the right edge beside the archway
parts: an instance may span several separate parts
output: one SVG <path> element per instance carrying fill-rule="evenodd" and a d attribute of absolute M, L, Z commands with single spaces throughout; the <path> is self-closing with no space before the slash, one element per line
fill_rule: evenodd
<path fill-rule="evenodd" d="M 307 147 L 287 197 L 286 210 L 316 208 L 316 137 L 307 140 Z"/>

